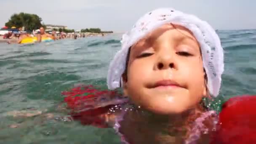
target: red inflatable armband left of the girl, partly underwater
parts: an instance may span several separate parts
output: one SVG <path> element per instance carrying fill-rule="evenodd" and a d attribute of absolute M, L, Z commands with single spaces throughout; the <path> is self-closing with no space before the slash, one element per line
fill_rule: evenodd
<path fill-rule="evenodd" d="M 120 93 L 117 91 L 100 91 L 92 85 L 81 85 L 61 94 L 66 96 L 64 102 L 72 110 L 70 115 L 74 120 L 99 128 L 107 128 L 104 115 L 109 109 L 124 102 L 118 98 Z"/>

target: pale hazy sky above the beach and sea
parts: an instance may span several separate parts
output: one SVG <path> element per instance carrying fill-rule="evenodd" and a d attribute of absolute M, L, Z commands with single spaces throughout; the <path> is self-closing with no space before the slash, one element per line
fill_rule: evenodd
<path fill-rule="evenodd" d="M 256 29 L 256 0 L 0 0 L 0 27 L 13 13 L 26 12 L 44 24 L 124 32 L 160 7 L 195 14 L 215 29 Z"/>

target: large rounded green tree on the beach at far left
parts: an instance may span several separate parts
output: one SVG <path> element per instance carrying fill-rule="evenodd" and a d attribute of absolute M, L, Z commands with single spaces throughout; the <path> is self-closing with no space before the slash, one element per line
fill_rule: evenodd
<path fill-rule="evenodd" d="M 41 21 L 42 19 L 36 14 L 15 13 L 5 25 L 7 27 L 24 27 L 25 30 L 32 31 L 33 29 L 39 29 L 43 26 Z"/>

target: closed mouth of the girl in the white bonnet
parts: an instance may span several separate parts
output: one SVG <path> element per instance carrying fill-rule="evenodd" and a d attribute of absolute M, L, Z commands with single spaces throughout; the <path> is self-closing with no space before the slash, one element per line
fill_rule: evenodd
<path fill-rule="evenodd" d="M 181 85 L 172 80 L 160 80 L 151 85 L 149 88 L 183 88 Z"/>

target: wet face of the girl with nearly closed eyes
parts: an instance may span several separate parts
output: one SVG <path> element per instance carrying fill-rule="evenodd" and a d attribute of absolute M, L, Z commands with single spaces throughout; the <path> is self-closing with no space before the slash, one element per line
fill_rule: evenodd
<path fill-rule="evenodd" d="M 124 93 L 159 114 L 195 108 L 206 95 L 199 44 L 179 25 L 165 24 L 133 45 L 126 76 Z"/>

